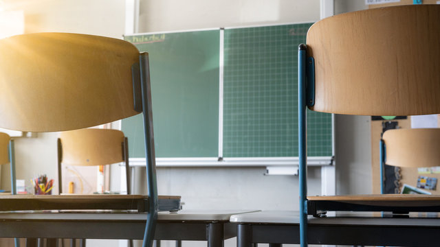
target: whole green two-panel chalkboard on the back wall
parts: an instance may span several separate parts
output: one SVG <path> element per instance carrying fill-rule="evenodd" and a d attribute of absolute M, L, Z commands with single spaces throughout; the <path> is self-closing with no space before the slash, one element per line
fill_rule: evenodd
<path fill-rule="evenodd" d="M 219 156 L 220 55 L 223 158 L 298 156 L 298 45 L 311 24 L 126 36 L 150 54 L 156 156 Z M 332 156 L 331 115 L 307 120 L 308 156 Z M 122 130 L 144 157 L 140 116 Z"/>

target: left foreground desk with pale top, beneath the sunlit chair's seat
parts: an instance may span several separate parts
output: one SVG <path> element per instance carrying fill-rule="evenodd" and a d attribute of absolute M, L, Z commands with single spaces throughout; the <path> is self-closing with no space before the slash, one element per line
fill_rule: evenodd
<path fill-rule="evenodd" d="M 236 236 L 230 216 L 247 212 L 159 212 L 155 239 L 204 240 L 208 246 L 223 246 L 224 239 Z M 122 211 L 0 213 L 0 237 L 142 239 L 146 215 Z"/>

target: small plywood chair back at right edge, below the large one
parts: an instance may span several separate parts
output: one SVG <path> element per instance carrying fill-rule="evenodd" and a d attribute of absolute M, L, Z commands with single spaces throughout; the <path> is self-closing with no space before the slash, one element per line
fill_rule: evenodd
<path fill-rule="evenodd" d="M 440 128 L 386 130 L 382 138 L 386 147 L 386 165 L 440 165 Z"/>

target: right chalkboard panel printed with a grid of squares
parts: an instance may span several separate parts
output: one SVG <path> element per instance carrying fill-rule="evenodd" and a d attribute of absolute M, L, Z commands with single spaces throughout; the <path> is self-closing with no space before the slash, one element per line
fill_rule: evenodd
<path fill-rule="evenodd" d="M 224 32 L 223 157 L 298 156 L 298 45 L 312 23 Z M 331 115 L 307 111 L 308 156 L 332 156 Z"/>

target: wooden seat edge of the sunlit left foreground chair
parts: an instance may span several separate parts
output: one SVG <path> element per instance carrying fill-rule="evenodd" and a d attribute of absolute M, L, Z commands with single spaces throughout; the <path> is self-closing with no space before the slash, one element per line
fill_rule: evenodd
<path fill-rule="evenodd" d="M 180 196 L 159 196 L 159 211 L 177 211 Z M 0 211 L 137 210 L 148 211 L 144 195 L 0 195 Z"/>

